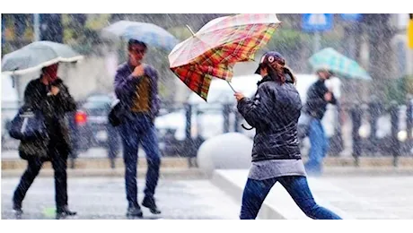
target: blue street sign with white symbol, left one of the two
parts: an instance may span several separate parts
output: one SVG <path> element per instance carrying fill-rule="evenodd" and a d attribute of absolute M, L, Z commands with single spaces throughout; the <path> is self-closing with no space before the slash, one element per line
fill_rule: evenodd
<path fill-rule="evenodd" d="M 302 28 L 307 32 L 331 30 L 333 13 L 303 13 Z"/>

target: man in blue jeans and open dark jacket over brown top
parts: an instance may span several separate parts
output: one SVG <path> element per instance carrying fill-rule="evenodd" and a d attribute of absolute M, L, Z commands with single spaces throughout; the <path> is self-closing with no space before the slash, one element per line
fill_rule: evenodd
<path fill-rule="evenodd" d="M 146 50 L 145 43 L 130 39 L 127 45 L 128 61 L 119 65 L 115 76 L 115 93 L 126 106 L 124 122 L 119 127 L 124 148 L 127 216 L 130 218 L 143 217 L 137 203 L 136 184 L 137 151 L 140 143 L 148 164 L 142 205 L 154 214 L 161 213 L 154 199 L 161 165 L 161 152 L 154 126 L 154 119 L 160 108 L 158 74 L 153 66 L 142 63 Z"/>

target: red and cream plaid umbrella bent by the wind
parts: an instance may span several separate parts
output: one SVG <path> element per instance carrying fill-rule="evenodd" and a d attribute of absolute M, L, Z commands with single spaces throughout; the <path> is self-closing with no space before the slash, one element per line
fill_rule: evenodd
<path fill-rule="evenodd" d="M 231 82 L 233 65 L 253 61 L 280 23 L 275 13 L 240 13 L 207 22 L 172 49 L 171 71 L 206 100 L 212 77 Z"/>

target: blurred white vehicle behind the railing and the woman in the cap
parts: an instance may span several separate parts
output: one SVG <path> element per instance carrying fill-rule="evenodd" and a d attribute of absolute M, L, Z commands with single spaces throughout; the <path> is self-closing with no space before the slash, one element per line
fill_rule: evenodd
<path fill-rule="evenodd" d="M 317 77 L 313 74 L 298 73 L 296 74 L 296 78 L 297 91 L 300 93 L 303 102 L 305 102 L 306 92 L 312 83 L 317 81 Z M 257 82 L 259 82 L 259 80 L 260 76 L 257 74 L 235 76 L 233 77 L 232 85 L 236 91 L 241 91 L 244 95 L 252 97 L 255 91 L 257 91 Z M 340 96 L 340 84 L 338 78 L 334 78 L 326 83 L 338 98 Z M 251 139 L 255 134 L 254 129 L 250 131 L 242 129 L 241 124 L 248 126 L 242 116 L 241 122 L 235 125 L 235 114 L 237 114 L 237 111 L 234 108 L 236 108 L 236 100 L 233 97 L 232 89 L 228 83 L 223 80 L 214 79 L 211 82 L 207 102 L 197 94 L 191 93 L 187 103 L 193 106 L 190 136 L 194 140 L 198 140 L 199 138 L 207 140 L 215 135 L 224 134 L 224 104 L 230 104 L 231 108 L 233 108 L 233 113 L 230 114 L 229 118 L 230 131 L 234 131 L 234 127 L 239 127 L 239 131 Z M 339 136 L 337 131 L 339 127 L 337 117 L 337 108 L 329 105 L 322 124 L 331 142 L 334 142 L 336 137 Z M 180 154 L 186 150 L 185 146 L 180 145 L 186 139 L 187 117 L 185 109 L 182 108 L 170 114 L 157 117 L 155 125 L 158 130 L 168 130 L 169 134 L 174 135 L 174 152 Z M 302 146 L 303 150 L 308 150 L 309 144 L 308 142 L 304 142 Z M 180 148 L 182 149 L 181 151 L 179 151 Z"/>

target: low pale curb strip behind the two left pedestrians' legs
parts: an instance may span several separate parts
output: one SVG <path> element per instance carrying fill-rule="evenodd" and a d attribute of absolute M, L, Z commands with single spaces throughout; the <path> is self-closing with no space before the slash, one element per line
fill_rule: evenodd
<path fill-rule="evenodd" d="M 23 169 L 2 170 L 2 178 L 21 177 L 23 172 Z M 137 169 L 137 177 L 145 175 L 146 168 Z M 43 168 L 39 177 L 54 177 L 54 170 Z M 125 169 L 67 169 L 67 177 L 125 177 Z M 207 179 L 207 176 L 198 168 L 161 168 L 160 179 Z"/>

